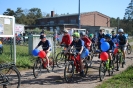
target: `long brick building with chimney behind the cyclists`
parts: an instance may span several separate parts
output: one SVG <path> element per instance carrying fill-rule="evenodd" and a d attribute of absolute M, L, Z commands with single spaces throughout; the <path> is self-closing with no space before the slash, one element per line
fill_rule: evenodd
<path fill-rule="evenodd" d="M 25 29 L 47 29 L 53 31 L 54 29 L 72 29 L 78 28 L 79 15 L 78 14 L 67 14 L 61 16 L 55 16 L 54 11 L 51 11 L 51 17 L 40 18 L 36 20 L 36 25 L 25 26 Z M 81 28 L 90 26 L 102 26 L 110 27 L 110 17 L 100 12 L 86 12 L 80 14 L 80 25 Z"/>

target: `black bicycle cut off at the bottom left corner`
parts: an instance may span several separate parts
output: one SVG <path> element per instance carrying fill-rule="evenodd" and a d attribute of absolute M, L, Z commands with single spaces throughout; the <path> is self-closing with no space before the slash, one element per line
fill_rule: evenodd
<path fill-rule="evenodd" d="M 3 88 L 20 88 L 20 84 L 21 74 L 15 64 L 0 64 L 0 86 Z"/>

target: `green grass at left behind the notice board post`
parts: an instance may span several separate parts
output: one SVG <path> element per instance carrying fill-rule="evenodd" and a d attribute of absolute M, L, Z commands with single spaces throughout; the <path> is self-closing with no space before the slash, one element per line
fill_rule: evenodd
<path fill-rule="evenodd" d="M 13 54 L 12 54 L 13 55 Z M 16 46 L 16 66 L 18 68 L 31 68 L 33 66 L 33 60 L 35 58 L 28 54 L 27 46 Z M 11 58 L 11 46 L 4 45 L 3 54 L 0 55 L 0 63 L 13 62 Z"/>

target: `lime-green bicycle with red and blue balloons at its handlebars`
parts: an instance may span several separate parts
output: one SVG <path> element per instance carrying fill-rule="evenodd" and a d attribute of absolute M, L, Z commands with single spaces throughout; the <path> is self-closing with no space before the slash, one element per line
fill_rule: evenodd
<path fill-rule="evenodd" d="M 100 78 L 100 81 L 102 81 L 104 79 L 104 77 L 106 75 L 106 71 L 108 71 L 109 76 L 113 75 L 113 73 L 114 73 L 113 60 L 110 60 L 110 59 L 107 59 L 105 61 L 101 60 L 100 67 L 99 67 L 99 78 Z"/>

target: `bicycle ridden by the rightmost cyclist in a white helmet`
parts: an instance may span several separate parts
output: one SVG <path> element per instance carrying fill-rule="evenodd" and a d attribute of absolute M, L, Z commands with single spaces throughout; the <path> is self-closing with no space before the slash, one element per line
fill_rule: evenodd
<path fill-rule="evenodd" d="M 124 59 L 123 59 L 123 53 L 122 48 L 123 46 L 118 46 L 118 52 L 114 56 L 114 62 L 116 63 L 116 70 L 119 71 L 120 65 L 122 65 L 122 68 L 124 68 Z"/>

